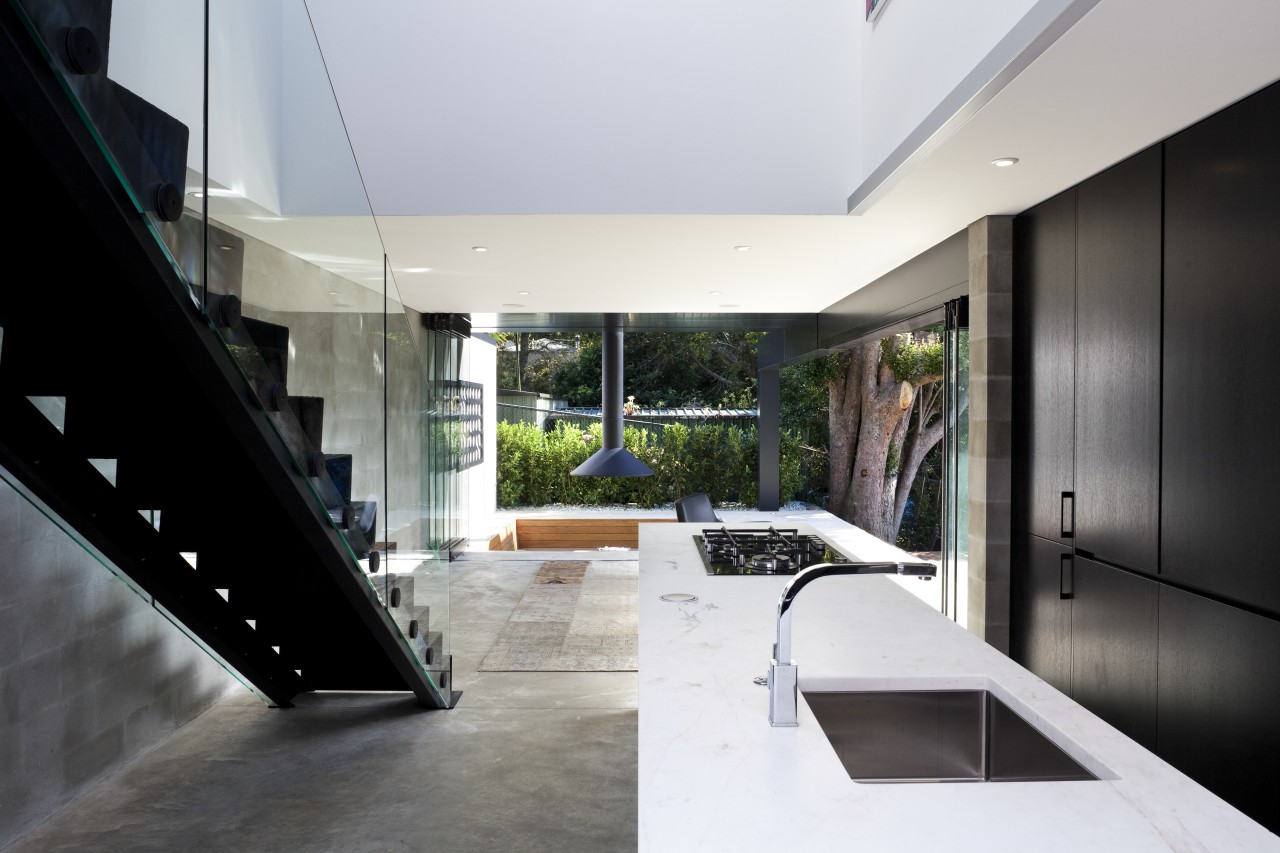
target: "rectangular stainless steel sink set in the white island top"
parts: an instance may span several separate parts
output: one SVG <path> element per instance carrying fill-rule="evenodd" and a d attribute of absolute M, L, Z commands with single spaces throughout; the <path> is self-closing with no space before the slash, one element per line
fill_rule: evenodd
<path fill-rule="evenodd" d="M 850 779 L 1096 780 L 989 690 L 804 692 Z"/>

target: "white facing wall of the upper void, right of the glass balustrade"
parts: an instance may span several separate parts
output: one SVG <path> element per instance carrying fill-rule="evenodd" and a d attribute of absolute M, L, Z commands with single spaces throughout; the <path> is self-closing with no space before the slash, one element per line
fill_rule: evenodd
<path fill-rule="evenodd" d="M 307 5 L 380 215 L 845 211 L 858 3 Z"/>

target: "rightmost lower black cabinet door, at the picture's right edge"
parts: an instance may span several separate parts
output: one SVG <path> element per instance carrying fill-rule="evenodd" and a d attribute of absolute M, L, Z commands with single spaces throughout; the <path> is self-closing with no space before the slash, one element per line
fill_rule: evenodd
<path fill-rule="evenodd" d="M 1280 833 L 1280 621 L 1160 590 L 1161 758 Z"/>

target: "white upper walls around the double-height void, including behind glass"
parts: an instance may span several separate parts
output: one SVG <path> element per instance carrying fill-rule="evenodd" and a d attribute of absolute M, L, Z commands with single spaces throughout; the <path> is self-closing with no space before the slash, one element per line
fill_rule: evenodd
<path fill-rule="evenodd" d="M 210 178 L 285 215 L 841 214 L 1093 3 L 220 0 Z M 202 5 L 118 0 L 110 63 L 197 170 Z"/>

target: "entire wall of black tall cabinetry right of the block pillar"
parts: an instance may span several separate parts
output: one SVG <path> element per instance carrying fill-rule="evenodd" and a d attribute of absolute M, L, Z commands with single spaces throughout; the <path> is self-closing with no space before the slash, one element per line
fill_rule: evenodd
<path fill-rule="evenodd" d="M 1276 138 L 1280 85 L 1015 219 L 1011 579 L 1015 660 L 1272 831 Z"/>

